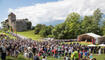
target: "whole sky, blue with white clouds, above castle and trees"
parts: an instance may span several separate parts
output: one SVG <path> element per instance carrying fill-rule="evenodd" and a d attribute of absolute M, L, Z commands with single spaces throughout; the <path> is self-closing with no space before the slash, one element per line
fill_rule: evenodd
<path fill-rule="evenodd" d="M 71 12 L 92 15 L 97 8 L 105 13 L 105 0 L 0 0 L 0 22 L 13 12 L 17 19 L 28 18 L 33 25 L 55 25 Z"/>

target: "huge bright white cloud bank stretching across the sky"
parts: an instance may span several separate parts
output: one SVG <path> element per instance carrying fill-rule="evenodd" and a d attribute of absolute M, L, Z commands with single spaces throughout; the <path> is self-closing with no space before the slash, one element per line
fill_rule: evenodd
<path fill-rule="evenodd" d="M 81 16 L 92 15 L 93 11 L 100 8 L 105 13 L 105 0 L 58 0 L 56 2 L 38 3 L 32 6 L 9 9 L 17 18 L 28 18 L 33 25 L 48 23 L 56 20 L 65 20 L 71 12 Z"/>

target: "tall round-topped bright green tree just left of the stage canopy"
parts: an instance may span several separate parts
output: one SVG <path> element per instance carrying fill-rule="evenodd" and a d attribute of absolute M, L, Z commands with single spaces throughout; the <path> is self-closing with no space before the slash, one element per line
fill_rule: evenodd
<path fill-rule="evenodd" d="M 66 26 L 69 27 L 69 38 L 76 38 L 80 32 L 80 15 L 78 13 L 71 13 L 66 18 Z"/>

